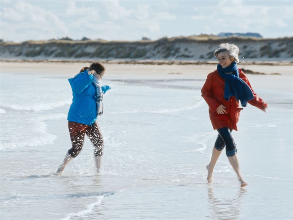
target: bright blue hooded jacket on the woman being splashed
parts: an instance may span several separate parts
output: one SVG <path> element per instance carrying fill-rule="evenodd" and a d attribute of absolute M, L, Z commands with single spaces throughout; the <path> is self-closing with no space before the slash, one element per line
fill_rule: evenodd
<path fill-rule="evenodd" d="M 92 125 L 97 119 L 97 90 L 93 82 L 93 74 L 89 70 L 68 79 L 72 89 L 72 104 L 70 105 L 67 120 L 86 125 Z M 110 86 L 102 86 L 103 94 Z"/>

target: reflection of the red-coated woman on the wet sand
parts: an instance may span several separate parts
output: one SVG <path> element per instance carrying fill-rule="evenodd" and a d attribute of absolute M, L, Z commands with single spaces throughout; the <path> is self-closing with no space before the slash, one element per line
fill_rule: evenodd
<path fill-rule="evenodd" d="M 210 219 L 236 220 L 241 211 L 241 202 L 246 194 L 246 189 L 239 189 L 233 197 L 226 199 L 217 198 L 213 192 L 213 187 L 208 188 L 208 201 L 210 203 Z"/>

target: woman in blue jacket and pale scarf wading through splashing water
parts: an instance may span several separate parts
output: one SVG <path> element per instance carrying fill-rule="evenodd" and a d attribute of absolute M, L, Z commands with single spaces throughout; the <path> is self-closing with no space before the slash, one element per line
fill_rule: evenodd
<path fill-rule="evenodd" d="M 84 134 L 87 134 L 94 145 L 95 162 L 99 172 L 104 144 L 96 119 L 103 114 L 103 94 L 111 89 L 110 86 L 101 86 L 105 71 L 101 63 L 95 62 L 89 68 L 81 69 L 74 78 L 68 79 L 73 96 L 67 117 L 72 148 L 68 150 L 57 173 L 62 172 L 67 163 L 79 154 L 83 147 Z"/>

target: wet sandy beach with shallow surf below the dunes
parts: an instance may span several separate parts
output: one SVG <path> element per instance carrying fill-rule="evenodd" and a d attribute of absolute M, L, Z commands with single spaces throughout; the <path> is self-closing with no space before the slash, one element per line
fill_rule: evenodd
<path fill-rule="evenodd" d="M 292 65 L 239 64 L 268 104 L 241 111 L 240 188 L 223 152 L 207 184 L 217 131 L 201 97 L 215 64 L 107 63 L 102 171 L 93 146 L 61 175 L 71 147 L 67 81 L 90 63 L 0 62 L 1 219 L 292 219 Z M 278 73 L 278 74 L 276 74 Z"/>

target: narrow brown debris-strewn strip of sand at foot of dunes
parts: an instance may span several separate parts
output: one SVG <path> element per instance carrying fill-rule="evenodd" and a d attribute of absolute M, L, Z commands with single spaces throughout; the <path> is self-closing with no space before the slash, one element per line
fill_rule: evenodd
<path fill-rule="evenodd" d="M 105 64 L 144 64 L 144 65 L 214 65 L 217 60 L 118 60 L 118 59 L 0 59 L 0 62 L 21 63 L 92 63 L 97 60 Z M 240 60 L 242 65 L 293 65 L 293 60 Z"/>

